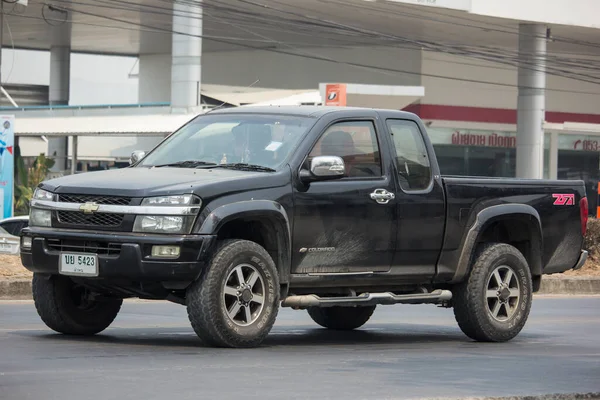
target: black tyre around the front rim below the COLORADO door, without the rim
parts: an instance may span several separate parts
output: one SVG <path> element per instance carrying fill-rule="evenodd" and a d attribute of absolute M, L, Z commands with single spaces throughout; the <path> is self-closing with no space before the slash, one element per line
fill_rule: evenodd
<path fill-rule="evenodd" d="M 264 282 L 264 303 L 256 320 L 239 326 L 227 314 L 223 299 L 229 274 L 241 264 L 250 264 Z M 220 243 L 205 273 L 187 289 L 186 305 L 192 328 L 211 347 L 249 348 L 267 337 L 279 311 L 279 275 L 267 251 L 248 240 Z"/>

